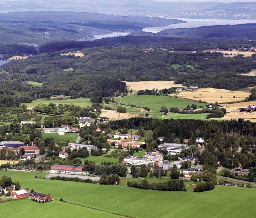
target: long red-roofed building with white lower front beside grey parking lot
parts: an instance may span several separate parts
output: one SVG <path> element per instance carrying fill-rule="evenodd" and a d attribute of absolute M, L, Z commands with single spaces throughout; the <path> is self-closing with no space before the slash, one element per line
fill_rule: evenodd
<path fill-rule="evenodd" d="M 72 175 L 88 175 L 88 171 L 83 171 L 83 166 L 72 165 L 52 165 L 50 173 L 72 174 Z"/>

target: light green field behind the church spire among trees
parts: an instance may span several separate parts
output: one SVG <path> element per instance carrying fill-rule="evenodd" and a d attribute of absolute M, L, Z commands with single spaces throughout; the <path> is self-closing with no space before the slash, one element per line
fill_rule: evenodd
<path fill-rule="evenodd" d="M 30 103 L 25 103 L 27 105 L 27 108 L 33 108 L 38 104 L 74 104 L 78 105 L 80 107 L 86 107 L 91 106 L 91 102 L 89 98 L 75 98 L 75 99 L 65 99 L 65 100 L 46 100 L 46 99 L 37 99 L 35 101 L 32 101 Z"/>

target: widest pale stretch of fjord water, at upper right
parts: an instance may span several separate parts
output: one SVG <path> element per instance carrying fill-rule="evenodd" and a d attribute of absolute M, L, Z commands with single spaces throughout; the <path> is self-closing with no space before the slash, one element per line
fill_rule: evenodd
<path fill-rule="evenodd" d="M 183 24 L 171 24 L 166 27 L 148 27 L 143 29 L 144 32 L 158 33 L 165 29 L 172 28 L 192 28 L 192 27 L 203 27 L 203 26 L 214 26 L 214 25 L 234 25 L 234 24 L 245 24 L 245 23 L 256 23 L 256 20 L 215 20 L 215 19 L 190 19 L 190 18 L 171 18 L 165 17 L 166 19 L 178 19 L 186 21 Z"/>

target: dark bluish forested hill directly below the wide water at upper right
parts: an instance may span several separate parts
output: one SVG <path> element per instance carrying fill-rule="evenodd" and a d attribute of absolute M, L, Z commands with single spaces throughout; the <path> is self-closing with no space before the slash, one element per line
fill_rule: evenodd
<path fill-rule="evenodd" d="M 234 38 L 245 37 L 255 38 L 256 23 L 239 25 L 217 25 L 198 28 L 167 29 L 155 34 L 155 36 L 165 37 L 193 37 L 193 38 Z"/>

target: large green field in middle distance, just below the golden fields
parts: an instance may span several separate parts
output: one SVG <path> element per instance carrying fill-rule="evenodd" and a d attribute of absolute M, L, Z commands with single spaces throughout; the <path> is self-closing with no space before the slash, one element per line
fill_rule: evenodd
<path fill-rule="evenodd" d="M 195 102 L 188 99 L 182 99 L 182 98 L 175 98 L 171 96 L 165 96 L 165 95 L 137 95 L 135 93 L 129 94 L 125 97 L 117 97 L 115 98 L 115 101 L 117 103 L 123 103 L 123 104 L 133 104 L 136 106 L 143 107 L 141 108 L 131 108 L 127 112 L 129 113 L 137 113 L 141 116 L 144 116 L 147 112 L 144 110 L 145 107 L 150 107 L 149 115 L 153 116 L 154 118 L 161 118 L 162 116 L 165 116 L 164 118 L 186 118 L 186 119 L 202 119 L 201 114 L 179 114 L 179 113 L 168 113 L 168 115 L 164 115 L 163 112 L 160 112 L 160 109 L 162 106 L 166 106 L 168 109 L 171 107 L 178 107 L 179 109 L 184 109 L 187 107 L 187 105 L 196 104 L 197 107 L 203 106 L 205 104 Z M 204 114 L 203 119 L 207 114 Z"/>

